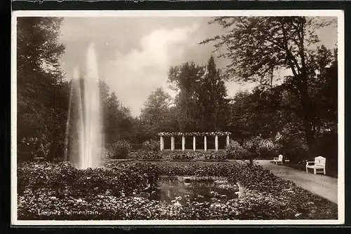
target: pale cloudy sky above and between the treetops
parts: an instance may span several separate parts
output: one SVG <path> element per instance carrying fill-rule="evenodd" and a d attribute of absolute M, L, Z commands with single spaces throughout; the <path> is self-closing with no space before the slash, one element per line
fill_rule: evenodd
<path fill-rule="evenodd" d="M 167 73 L 171 66 L 193 61 L 205 64 L 213 45 L 199 42 L 217 34 L 211 18 L 65 18 L 60 40 L 66 46 L 62 69 L 67 78 L 74 68 L 85 69 L 88 44 L 95 44 L 100 79 L 116 92 L 133 116 L 140 113 L 148 95 L 159 87 L 168 91 Z M 336 28 L 319 32 L 321 41 L 333 48 Z M 217 59 L 218 67 L 227 64 Z M 252 84 L 227 83 L 228 95 Z"/>

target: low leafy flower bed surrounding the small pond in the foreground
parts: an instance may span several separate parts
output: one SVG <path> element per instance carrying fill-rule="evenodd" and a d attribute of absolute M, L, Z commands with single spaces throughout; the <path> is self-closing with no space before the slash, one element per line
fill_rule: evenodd
<path fill-rule="evenodd" d="M 234 200 L 162 204 L 140 198 L 143 174 L 227 177 L 242 187 Z M 337 219 L 338 206 L 258 165 L 109 163 L 77 170 L 69 163 L 18 164 L 18 219 Z M 55 211 L 43 215 L 39 211 Z"/>

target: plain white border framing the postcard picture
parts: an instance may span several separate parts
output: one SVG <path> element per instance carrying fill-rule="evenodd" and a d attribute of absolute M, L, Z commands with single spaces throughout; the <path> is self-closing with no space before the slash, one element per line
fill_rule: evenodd
<path fill-rule="evenodd" d="M 17 217 L 17 60 L 18 17 L 214 17 L 214 16 L 321 16 L 338 18 L 338 219 L 336 220 L 152 220 L 152 221 L 23 221 Z M 11 224 L 15 226 L 140 226 L 140 225 L 333 225 L 345 222 L 345 35 L 341 10 L 263 11 L 13 11 L 11 20 Z"/>

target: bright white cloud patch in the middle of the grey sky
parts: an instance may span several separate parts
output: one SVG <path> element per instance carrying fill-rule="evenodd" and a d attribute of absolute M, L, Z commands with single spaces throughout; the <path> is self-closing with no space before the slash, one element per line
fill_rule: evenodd
<path fill-rule="evenodd" d="M 160 86 L 168 90 L 168 69 L 183 62 L 189 44 L 197 46 L 192 39 L 197 29 L 197 24 L 157 29 L 141 37 L 140 49 L 126 54 L 116 51 L 115 59 L 106 66 L 106 82 L 123 104 L 131 108 L 133 116 L 140 113 L 152 91 Z"/>

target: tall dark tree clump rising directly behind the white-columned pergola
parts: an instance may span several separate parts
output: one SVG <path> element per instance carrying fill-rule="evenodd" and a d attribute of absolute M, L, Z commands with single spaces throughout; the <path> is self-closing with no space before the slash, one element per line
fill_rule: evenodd
<path fill-rule="evenodd" d="M 223 128 L 227 90 L 213 56 L 206 66 L 186 62 L 171 67 L 168 82 L 178 92 L 176 106 L 180 130 L 214 131 Z"/>

